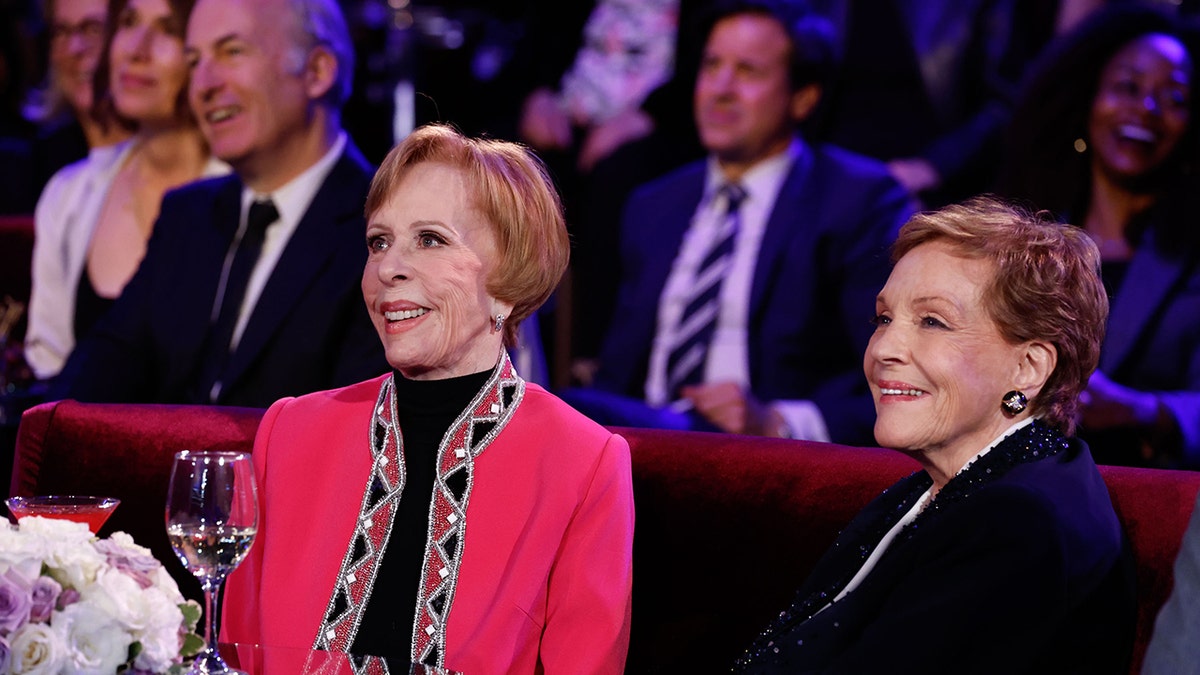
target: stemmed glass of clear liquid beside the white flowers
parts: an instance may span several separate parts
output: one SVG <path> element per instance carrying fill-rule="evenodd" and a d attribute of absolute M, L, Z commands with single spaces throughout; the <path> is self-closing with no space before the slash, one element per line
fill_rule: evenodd
<path fill-rule="evenodd" d="M 217 651 L 217 613 L 226 577 L 246 557 L 257 531 L 258 496 L 248 454 L 175 454 L 167 491 L 167 538 L 179 561 L 200 580 L 206 620 L 206 645 L 192 663 L 192 675 L 238 673 Z"/>

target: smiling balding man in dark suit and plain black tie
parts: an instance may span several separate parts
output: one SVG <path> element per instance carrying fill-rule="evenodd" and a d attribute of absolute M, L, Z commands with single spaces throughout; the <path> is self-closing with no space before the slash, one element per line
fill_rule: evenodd
<path fill-rule="evenodd" d="M 341 129 L 334 0 L 200 0 L 192 109 L 234 175 L 170 192 L 146 256 L 65 370 L 95 401 L 268 406 L 388 368 L 362 304 L 372 168 Z"/>

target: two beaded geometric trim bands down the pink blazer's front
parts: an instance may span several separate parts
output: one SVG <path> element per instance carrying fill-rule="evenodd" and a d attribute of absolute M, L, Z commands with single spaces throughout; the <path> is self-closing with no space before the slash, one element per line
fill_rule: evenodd
<path fill-rule="evenodd" d="M 413 620 L 412 658 L 419 663 L 443 665 L 445 626 L 458 585 L 475 458 L 499 435 L 524 396 L 524 380 L 516 374 L 508 352 L 502 353 L 491 378 L 450 424 L 438 446 L 437 483 L 430 502 L 425 562 Z M 371 599 L 404 490 L 403 437 L 396 418 L 395 381 L 388 377 L 379 388 L 371 419 L 371 477 L 313 649 L 348 652 Z"/>

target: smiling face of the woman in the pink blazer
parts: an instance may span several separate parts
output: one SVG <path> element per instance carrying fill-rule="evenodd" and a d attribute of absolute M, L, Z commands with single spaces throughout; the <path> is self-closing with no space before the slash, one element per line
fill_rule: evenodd
<path fill-rule="evenodd" d="M 462 171 L 424 162 L 367 219 L 362 295 L 388 363 L 406 377 L 469 375 L 499 358 L 496 315 L 512 306 L 487 291 L 499 247 L 473 199 Z"/>

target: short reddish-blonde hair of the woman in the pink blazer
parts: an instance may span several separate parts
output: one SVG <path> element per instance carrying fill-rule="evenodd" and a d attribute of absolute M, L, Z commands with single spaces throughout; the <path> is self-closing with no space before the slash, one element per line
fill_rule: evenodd
<path fill-rule="evenodd" d="M 468 138 L 446 125 L 426 125 L 384 157 L 367 192 L 367 220 L 422 162 L 440 162 L 469 177 L 475 208 L 494 228 L 500 259 L 487 292 L 512 304 L 504 344 L 516 345 L 516 329 L 550 298 L 566 270 L 570 243 L 563 203 L 541 160 L 517 143 Z"/>

